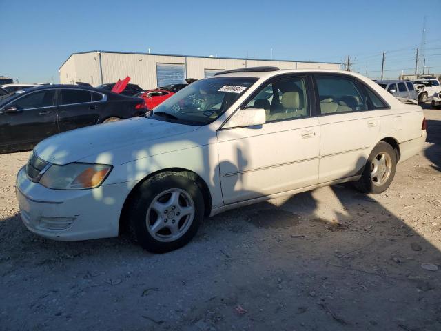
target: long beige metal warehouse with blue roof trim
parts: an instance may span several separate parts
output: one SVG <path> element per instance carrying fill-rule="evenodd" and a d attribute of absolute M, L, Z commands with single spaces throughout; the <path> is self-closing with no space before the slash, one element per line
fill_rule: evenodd
<path fill-rule="evenodd" d="M 198 57 L 150 53 L 90 51 L 79 52 L 59 68 L 60 83 L 114 83 L 129 76 L 145 90 L 167 84 L 185 83 L 185 79 L 203 79 L 216 72 L 255 66 L 276 66 L 280 69 L 338 69 L 338 63 Z"/>

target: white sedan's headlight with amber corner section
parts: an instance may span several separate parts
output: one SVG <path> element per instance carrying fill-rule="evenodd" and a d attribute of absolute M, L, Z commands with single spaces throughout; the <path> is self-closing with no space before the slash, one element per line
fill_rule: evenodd
<path fill-rule="evenodd" d="M 40 179 L 41 185 L 56 190 L 83 190 L 103 183 L 112 165 L 93 163 L 52 164 Z"/>

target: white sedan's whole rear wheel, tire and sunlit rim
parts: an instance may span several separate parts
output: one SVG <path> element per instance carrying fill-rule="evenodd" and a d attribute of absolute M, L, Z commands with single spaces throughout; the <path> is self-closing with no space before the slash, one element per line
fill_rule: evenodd
<path fill-rule="evenodd" d="M 396 151 L 381 141 L 369 155 L 361 178 L 354 183 L 363 193 L 380 194 L 387 190 L 395 176 L 397 164 Z"/>

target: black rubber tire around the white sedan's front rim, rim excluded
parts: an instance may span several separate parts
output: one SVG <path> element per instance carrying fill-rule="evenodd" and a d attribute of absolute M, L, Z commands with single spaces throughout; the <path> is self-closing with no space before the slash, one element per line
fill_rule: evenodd
<path fill-rule="evenodd" d="M 164 242 L 153 237 L 147 229 L 147 210 L 158 195 L 173 189 L 184 191 L 191 197 L 194 204 L 194 217 L 181 237 L 174 241 Z M 152 253 L 165 253 L 183 247 L 195 236 L 204 218 L 203 194 L 197 183 L 185 176 L 185 173 L 163 172 L 156 174 L 141 183 L 132 197 L 128 215 L 130 232 L 136 242 Z M 172 220 L 170 219 L 170 221 Z M 176 223 L 179 222 L 178 220 Z M 169 223 L 169 225 L 171 224 Z"/>

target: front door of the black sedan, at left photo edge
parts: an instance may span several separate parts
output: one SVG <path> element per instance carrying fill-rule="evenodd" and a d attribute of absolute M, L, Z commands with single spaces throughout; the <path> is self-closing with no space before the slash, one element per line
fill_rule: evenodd
<path fill-rule="evenodd" d="M 2 136 L 0 147 L 10 150 L 32 148 L 36 143 L 57 134 L 55 90 L 39 90 L 14 99 L 4 108 L 14 112 L 0 112 Z M 3 138 L 2 137 L 2 138 Z"/>

